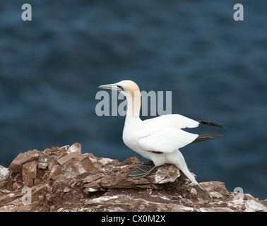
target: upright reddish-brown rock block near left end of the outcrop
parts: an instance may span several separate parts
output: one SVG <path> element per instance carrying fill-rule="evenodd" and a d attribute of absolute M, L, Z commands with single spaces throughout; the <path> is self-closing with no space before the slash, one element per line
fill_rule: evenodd
<path fill-rule="evenodd" d="M 22 175 L 23 175 L 23 183 L 27 186 L 33 186 L 36 184 L 36 162 L 28 162 L 23 164 L 22 167 Z"/>

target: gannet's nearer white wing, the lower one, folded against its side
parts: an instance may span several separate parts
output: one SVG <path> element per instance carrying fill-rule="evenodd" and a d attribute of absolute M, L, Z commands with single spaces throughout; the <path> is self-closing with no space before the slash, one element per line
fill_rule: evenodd
<path fill-rule="evenodd" d="M 166 128 L 141 138 L 138 145 L 151 152 L 172 153 L 174 150 L 193 142 L 198 134 L 188 133 L 176 128 Z"/>

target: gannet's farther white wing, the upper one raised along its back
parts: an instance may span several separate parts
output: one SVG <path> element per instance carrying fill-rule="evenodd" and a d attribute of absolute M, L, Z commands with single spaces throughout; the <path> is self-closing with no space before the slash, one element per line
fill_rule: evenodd
<path fill-rule="evenodd" d="M 150 127 L 158 128 L 195 128 L 199 125 L 198 121 L 189 119 L 180 114 L 165 114 L 160 117 L 155 117 L 153 119 L 146 119 L 143 121 L 144 124 Z"/>

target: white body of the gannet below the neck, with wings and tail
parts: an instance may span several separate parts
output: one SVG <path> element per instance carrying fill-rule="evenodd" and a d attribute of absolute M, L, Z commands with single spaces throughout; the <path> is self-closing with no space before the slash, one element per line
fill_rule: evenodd
<path fill-rule="evenodd" d="M 139 117 L 126 116 L 123 141 L 131 150 L 146 157 L 148 160 L 152 160 L 155 166 L 165 163 L 176 165 L 193 184 L 198 184 L 189 172 L 184 157 L 178 149 L 194 141 L 198 135 L 187 133 L 177 127 L 171 127 L 171 124 L 167 124 L 170 121 L 168 116 L 172 119 L 182 117 L 179 114 L 172 114 L 157 117 L 154 120 L 147 119 L 142 121 Z M 184 120 L 186 119 L 188 118 L 184 117 Z M 190 121 L 191 119 L 188 120 Z M 164 124 L 165 121 L 166 124 Z M 198 126 L 198 122 L 195 121 L 193 125 L 194 127 Z M 160 154 L 151 151 L 159 152 Z"/>

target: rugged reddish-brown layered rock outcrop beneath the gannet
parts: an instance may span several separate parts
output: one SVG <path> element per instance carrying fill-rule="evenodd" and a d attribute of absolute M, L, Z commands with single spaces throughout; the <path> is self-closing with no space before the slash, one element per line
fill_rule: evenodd
<path fill-rule="evenodd" d="M 133 180 L 138 163 L 82 154 L 79 143 L 20 153 L 0 166 L 0 211 L 267 211 L 267 200 L 223 182 L 192 186 L 174 165 Z"/>

